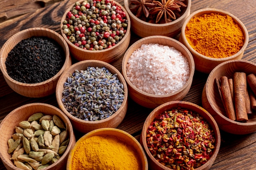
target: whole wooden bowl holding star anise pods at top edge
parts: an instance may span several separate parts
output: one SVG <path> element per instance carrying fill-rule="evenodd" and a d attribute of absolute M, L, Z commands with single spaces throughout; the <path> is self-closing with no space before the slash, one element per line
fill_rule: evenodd
<path fill-rule="evenodd" d="M 191 0 L 124 0 L 131 30 L 141 38 L 175 37 L 190 15 Z"/>

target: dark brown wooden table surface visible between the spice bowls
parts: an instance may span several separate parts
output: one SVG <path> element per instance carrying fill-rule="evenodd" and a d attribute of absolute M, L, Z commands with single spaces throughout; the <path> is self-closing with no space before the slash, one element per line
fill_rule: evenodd
<path fill-rule="evenodd" d="M 60 21 L 64 11 L 76 0 L 0 0 L 0 47 L 13 34 L 31 27 L 52 29 L 61 34 Z M 123 0 L 116 0 L 124 5 Z M 222 9 L 232 13 L 246 26 L 249 44 L 243 60 L 256 63 L 256 0 L 192 0 L 191 13 L 202 8 Z M 179 36 L 179 35 L 178 35 Z M 176 39 L 178 38 L 176 37 Z M 130 44 L 140 38 L 132 33 Z M 112 63 L 121 71 L 122 57 Z M 73 61 L 73 63 L 76 61 Z M 201 96 L 208 74 L 195 71 L 189 93 L 183 99 L 202 106 Z M 0 122 L 13 109 L 24 104 L 41 102 L 58 107 L 55 94 L 43 98 L 28 98 L 14 92 L 0 72 Z M 139 106 L 129 99 L 124 121 L 117 127 L 139 140 L 144 121 L 152 109 Z M 84 134 L 76 132 L 79 139 Z M 1 136 L 1 134 L 0 134 Z M 255 170 L 256 132 L 249 135 L 232 135 L 221 131 L 221 146 L 210 170 Z M 0 140 L 1 141 L 1 140 Z M 6 170 L 0 160 L 0 170 Z"/>

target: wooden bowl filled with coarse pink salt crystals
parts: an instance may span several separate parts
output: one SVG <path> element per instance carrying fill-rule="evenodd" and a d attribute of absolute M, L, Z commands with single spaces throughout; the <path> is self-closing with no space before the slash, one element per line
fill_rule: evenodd
<path fill-rule="evenodd" d="M 138 40 L 124 54 L 122 74 L 128 95 L 147 108 L 181 100 L 195 71 L 189 50 L 177 40 L 154 35 Z"/>

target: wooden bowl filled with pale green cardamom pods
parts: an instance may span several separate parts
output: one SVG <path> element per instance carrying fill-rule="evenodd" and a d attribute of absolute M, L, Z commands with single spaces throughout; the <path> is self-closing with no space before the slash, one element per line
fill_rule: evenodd
<path fill-rule="evenodd" d="M 0 158 L 7 170 L 63 170 L 76 143 L 67 116 L 55 106 L 31 103 L 0 124 Z"/>

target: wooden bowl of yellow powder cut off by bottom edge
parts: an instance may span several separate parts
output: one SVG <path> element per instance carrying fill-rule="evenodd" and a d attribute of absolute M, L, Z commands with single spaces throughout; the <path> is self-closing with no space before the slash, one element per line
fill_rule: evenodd
<path fill-rule="evenodd" d="M 123 130 L 99 128 L 81 137 L 72 148 L 67 170 L 148 170 L 139 141 Z"/>

